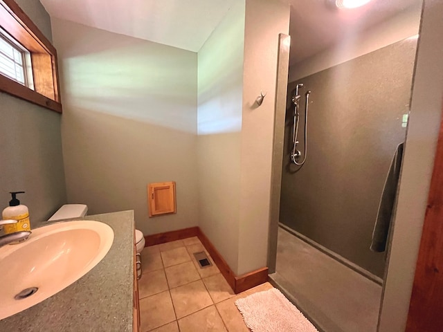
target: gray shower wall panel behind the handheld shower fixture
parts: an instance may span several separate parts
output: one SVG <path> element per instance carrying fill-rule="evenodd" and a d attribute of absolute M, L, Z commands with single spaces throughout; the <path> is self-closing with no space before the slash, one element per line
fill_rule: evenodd
<path fill-rule="evenodd" d="M 416 47 L 416 39 L 404 39 L 288 86 L 280 222 L 379 277 L 384 254 L 369 247 L 386 174 L 405 139 L 401 124 L 409 109 Z M 299 169 L 289 163 L 289 98 L 300 82 L 305 84 L 300 114 L 305 91 L 312 93 L 307 161 Z M 302 135 L 298 140 L 302 151 Z"/>

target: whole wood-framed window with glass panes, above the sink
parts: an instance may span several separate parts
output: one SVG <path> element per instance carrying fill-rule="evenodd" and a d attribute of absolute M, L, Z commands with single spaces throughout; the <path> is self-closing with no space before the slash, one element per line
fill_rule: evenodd
<path fill-rule="evenodd" d="M 0 0 L 0 91 L 62 113 L 57 51 L 14 0 Z"/>

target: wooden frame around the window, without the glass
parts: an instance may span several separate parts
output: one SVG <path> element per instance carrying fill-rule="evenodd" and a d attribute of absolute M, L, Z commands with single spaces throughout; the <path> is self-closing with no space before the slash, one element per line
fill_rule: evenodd
<path fill-rule="evenodd" d="M 0 0 L 0 26 L 29 51 L 35 89 L 0 75 L 0 91 L 62 113 L 54 46 L 13 0 Z"/>

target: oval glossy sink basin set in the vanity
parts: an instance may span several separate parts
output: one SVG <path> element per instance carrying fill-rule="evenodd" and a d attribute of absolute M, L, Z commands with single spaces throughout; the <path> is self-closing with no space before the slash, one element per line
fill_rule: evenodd
<path fill-rule="evenodd" d="M 0 320 L 19 313 L 86 275 L 105 257 L 114 231 L 98 221 L 66 221 L 32 230 L 23 243 L 0 248 Z M 27 288 L 38 290 L 21 299 Z M 25 293 L 31 293 L 26 291 Z"/>

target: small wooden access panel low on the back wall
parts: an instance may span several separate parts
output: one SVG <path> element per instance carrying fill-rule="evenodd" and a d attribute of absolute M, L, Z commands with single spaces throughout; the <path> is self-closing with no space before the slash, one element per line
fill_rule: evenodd
<path fill-rule="evenodd" d="M 175 182 L 150 183 L 147 186 L 150 216 L 176 213 Z"/>

